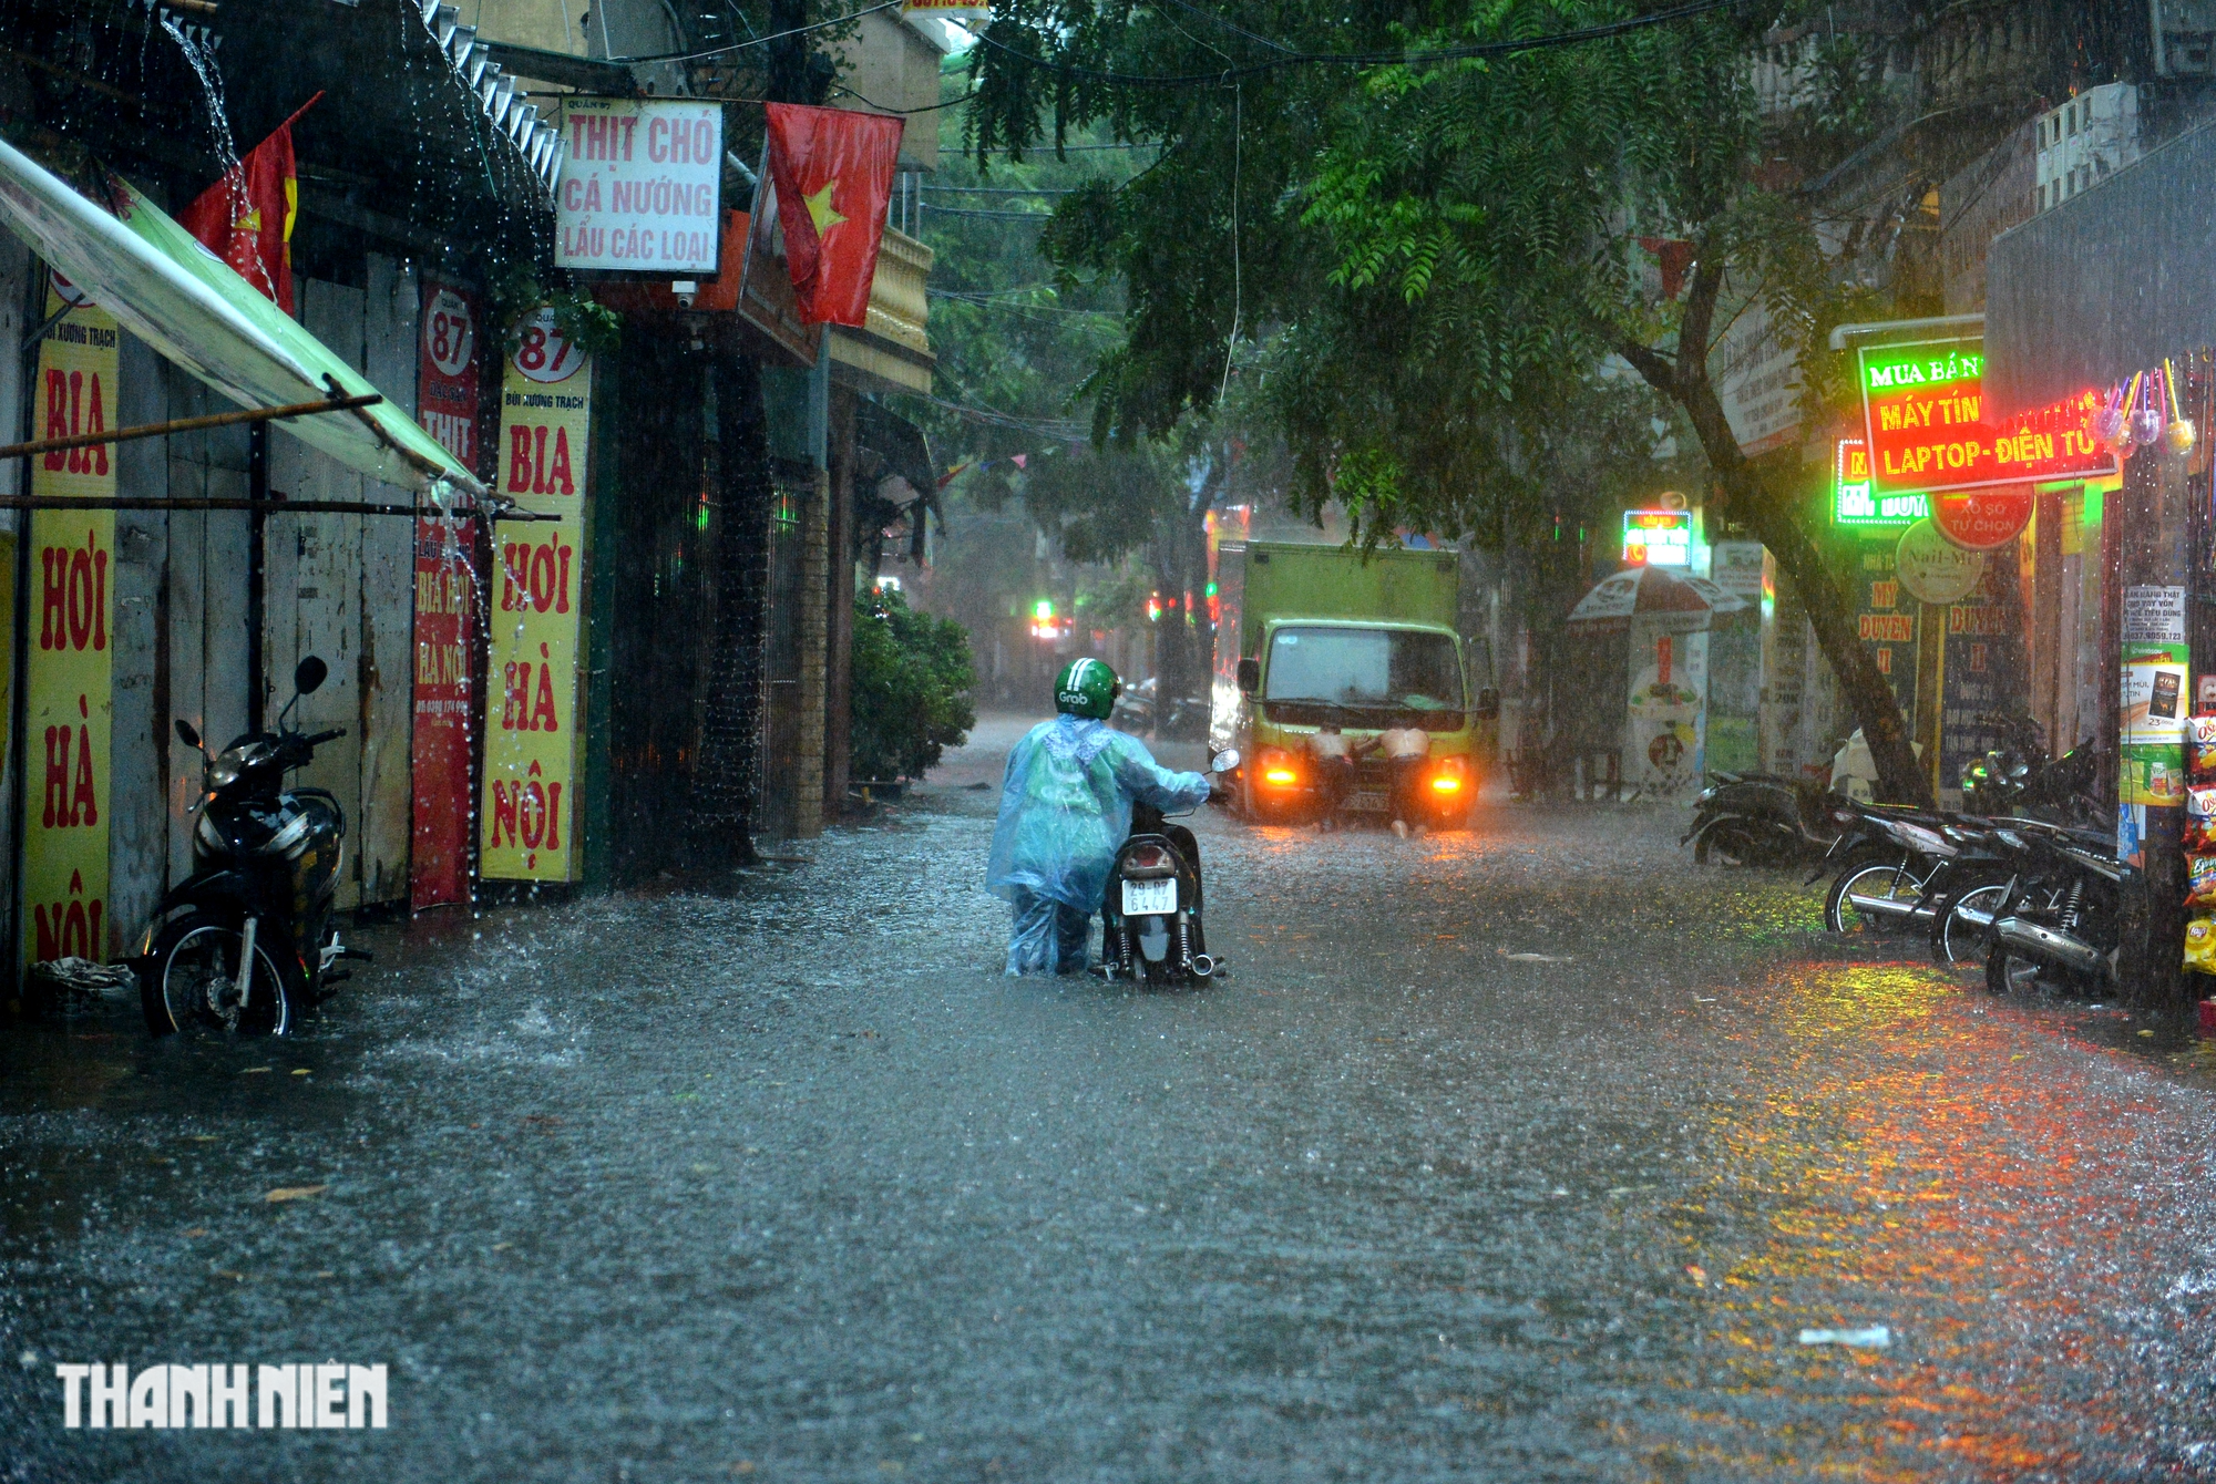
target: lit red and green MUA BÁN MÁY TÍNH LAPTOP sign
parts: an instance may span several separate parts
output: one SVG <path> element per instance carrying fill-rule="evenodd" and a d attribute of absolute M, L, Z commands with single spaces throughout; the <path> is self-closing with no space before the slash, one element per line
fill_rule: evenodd
<path fill-rule="evenodd" d="M 1977 337 L 1859 348 L 1875 498 L 2114 472 L 2114 456 L 2085 432 L 2090 392 L 1986 423 L 1983 348 Z"/>

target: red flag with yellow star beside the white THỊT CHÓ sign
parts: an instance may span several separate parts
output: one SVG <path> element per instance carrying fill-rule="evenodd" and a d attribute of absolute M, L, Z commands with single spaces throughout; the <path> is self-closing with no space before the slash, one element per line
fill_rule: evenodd
<path fill-rule="evenodd" d="M 769 179 L 800 319 L 860 326 L 878 277 L 902 120 L 769 104 Z"/>

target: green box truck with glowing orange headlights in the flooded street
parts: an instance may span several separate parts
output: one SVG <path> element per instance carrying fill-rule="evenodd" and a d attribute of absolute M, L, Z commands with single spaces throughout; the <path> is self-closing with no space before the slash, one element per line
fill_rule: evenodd
<path fill-rule="evenodd" d="M 1225 543 L 1217 598 L 1210 740 L 1239 749 L 1234 786 L 1248 820 L 1314 817 L 1321 793 L 1307 738 L 1316 731 L 1336 726 L 1363 744 L 1392 726 L 1420 726 L 1429 822 L 1467 822 L 1496 758 L 1500 698 L 1489 673 L 1469 673 L 1454 552 Z M 1381 753 L 1358 762 L 1347 808 L 1389 808 Z"/>

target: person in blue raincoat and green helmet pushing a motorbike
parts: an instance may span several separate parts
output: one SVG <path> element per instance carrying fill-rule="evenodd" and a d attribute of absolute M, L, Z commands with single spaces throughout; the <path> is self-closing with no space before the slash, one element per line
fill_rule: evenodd
<path fill-rule="evenodd" d="M 1008 753 L 986 886 L 1015 908 L 1010 975 L 1086 968 L 1092 913 L 1130 835 L 1132 800 L 1161 811 L 1208 802 L 1203 773 L 1172 773 L 1139 738 L 1108 726 L 1119 689 L 1101 660 L 1070 660 L 1055 676 L 1059 715 Z"/>

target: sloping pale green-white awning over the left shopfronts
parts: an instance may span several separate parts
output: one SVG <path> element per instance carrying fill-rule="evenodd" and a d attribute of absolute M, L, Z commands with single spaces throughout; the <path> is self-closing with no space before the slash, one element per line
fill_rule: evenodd
<path fill-rule="evenodd" d="M 109 204 L 73 190 L 0 140 L 0 219 L 162 357 L 242 408 L 279 408 L 377 388 L 264 299 L 160 206 L 115 175 Z M 279 423 L 350 470 L 406 489 L 485 494 L 485 487 L 392 401 Z"/>

